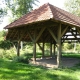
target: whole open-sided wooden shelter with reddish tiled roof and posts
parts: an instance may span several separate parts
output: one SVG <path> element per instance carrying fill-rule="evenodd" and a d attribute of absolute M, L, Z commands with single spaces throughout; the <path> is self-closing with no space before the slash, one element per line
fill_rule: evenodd
<path fill-rule="evenodd" d="M 4 29 L 8 29 L 6 39 L 18 41 L 18 56 L 20 41 L 33 42 L 34 61 L 36 61 L 36 43 L 42 50 L 43 57 L 45 43 L 51 44 L 51 55 L 52 44 L 57 45 L 58 67 L 61 64 L 61 43 L 65 40 L 80 40 L 80 18 L 49 3 L 22 16 Z"/>

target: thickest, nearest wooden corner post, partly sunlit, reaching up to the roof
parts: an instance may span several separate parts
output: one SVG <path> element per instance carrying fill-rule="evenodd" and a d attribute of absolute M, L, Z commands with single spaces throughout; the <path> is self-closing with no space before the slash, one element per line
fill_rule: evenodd
<path fill-rule="evenodd" d="M 61 24 L 60 24 L 59 29 L 58 29 L 57 67 L 61 67 Z"/>

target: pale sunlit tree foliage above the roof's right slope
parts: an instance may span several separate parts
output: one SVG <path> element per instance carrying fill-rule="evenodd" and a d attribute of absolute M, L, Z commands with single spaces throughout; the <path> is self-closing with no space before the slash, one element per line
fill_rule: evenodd
<path fill-rule="evenodd" d="M 66 0 L 65 8 L 69 12 L 77 16 L 80 16 L 80 0 Z"/>

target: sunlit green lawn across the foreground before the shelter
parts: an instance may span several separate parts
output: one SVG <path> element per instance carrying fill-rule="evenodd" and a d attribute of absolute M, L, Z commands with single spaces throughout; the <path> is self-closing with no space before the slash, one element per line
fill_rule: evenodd
<path fill-rule="evenodd" d="M 73 68 L 46 69 L 0 59 L 0 80 L 80 80 L 80 64 Z"/>

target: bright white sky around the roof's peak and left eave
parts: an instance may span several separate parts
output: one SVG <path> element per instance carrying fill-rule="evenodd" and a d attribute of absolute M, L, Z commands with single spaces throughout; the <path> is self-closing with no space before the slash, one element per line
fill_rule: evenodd
<path fill-rule="evenodd" d="M 45 3 L 50 3 L 50 4 L 57 6 L 61 9 L 65 9 L 64 2 L 65 2 L 65 0 L 39 0 L 39 3 L 37 3 L 38 6 L 34 6 L 34 9 L 38 8 L 39 6 L 41 6 Z M 3 30 L 3 28 L 8 24 L 9 24 L 8 17 L 5 17 L 3 20 L 3 23 L 0 24 L 0 31 Z"/>

